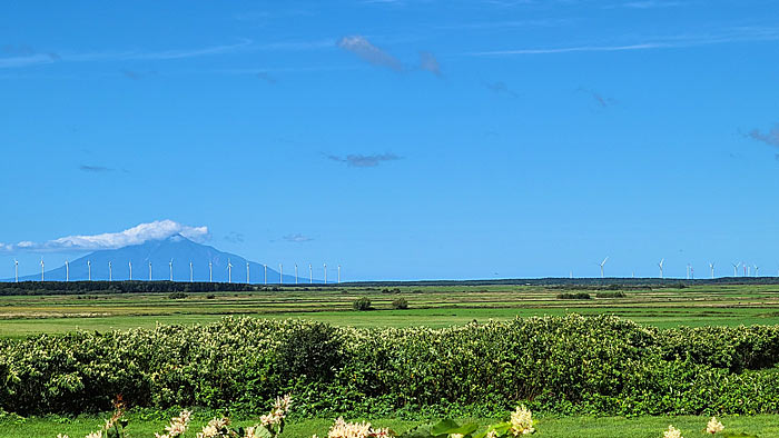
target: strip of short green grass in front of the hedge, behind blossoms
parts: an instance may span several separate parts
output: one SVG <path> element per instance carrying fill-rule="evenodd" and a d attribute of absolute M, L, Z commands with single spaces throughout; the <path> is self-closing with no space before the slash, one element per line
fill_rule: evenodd
<path fill-rule="evenodd" d="M 536 437 L 555 438 L 660 438 L 668 425 L 673 425 L 681 429 L 686 438 L 706 437 L 703 434 L 708 417 L 681 416 L 681 417 L 566 417 L 566 418 L 542 418 L 538 420 Z M 721 418 L 726 426 L 726 431 L 741 431 L 758 435 L 761 438 L 779 437 L 779 416 L 752 416 L 738 417 L 727 416 Z M 487 425 L 495 422 L 490 419 L 477 419 L 480 424 Z M 0 438 L 28 438 L 28 437 L 57 437 L 57 434 L 67 434 L 71 438 L 81 438 L 87 432 L 96 429 L 102 422 L 100 418 L 27 419 L 23 422 L 4 422 L 0 427 Z M 187 436 L 194 437 L 206 421 L 193 421 Z M 372 420 L 374 426 L 389 427 L 397 432 L 416 426 L 417 421 L 404 421 L 396 419 Z M 130 420 L 128 432 L 134 438 L 154 437 L 154 432 L 164 431 L 166 421 L 144 421 L 137 418 Z M 253 425 L 254 421 L 237 421 L 236 425 Z M 287 426 L 282 437 L 284 438 L 310 438 L 313 434 L 319 437 L 327 436 L 327 429 L 333 424 L 328 419 L 313 419 L 293 421 Z"/>

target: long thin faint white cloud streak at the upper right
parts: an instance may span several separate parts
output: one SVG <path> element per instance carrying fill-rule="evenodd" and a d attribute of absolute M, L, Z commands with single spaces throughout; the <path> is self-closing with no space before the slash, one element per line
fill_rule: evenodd
<path fill-rule="evenodd" d="M 713 33 L 686 33 L 647 38 L 647 41 L 627 44 L 575 44 L 552 48 L 520 48 L 504 50 L 485 50 L 464 53 L 473 57 L 501 57 L 520 54 L 552 54 L 572 52 L 615 52 L 651 49 L 674 49 L 721 44 L 729 42 L 753 42 L 779 40 L 779 28 L 737 27 Z"/>

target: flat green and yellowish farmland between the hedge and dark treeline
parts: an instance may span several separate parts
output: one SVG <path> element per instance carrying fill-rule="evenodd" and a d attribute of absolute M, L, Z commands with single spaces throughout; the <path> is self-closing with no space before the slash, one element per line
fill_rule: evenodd
<path fill-rule="evenodd" d="M 599 298 L 618 290 L 541 286 L 411 286 L 379 288 L 284 287 L 278 290 L 168 293 L 88 293 L 0 297 L 0 337 L 76 330 L 200 323 L 228 315 L 303 318 L 336 326 L 446 327 L 473 320 L 610 313 L 661 328 L 779 323 L 779 286 L 702 285 L 684 288 L 623 289 L 623 298 Z M 611 288 L 613 289 L 613 288 Z M 562 299 L 586 292 L 591 299 Z M 359 297 L 373 310 L 355 311 Z M 393 309 L 400 298 L 408 309 Z"/>

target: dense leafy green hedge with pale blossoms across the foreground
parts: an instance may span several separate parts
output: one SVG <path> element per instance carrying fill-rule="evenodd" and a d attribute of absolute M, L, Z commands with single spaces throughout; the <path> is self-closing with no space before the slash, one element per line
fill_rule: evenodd
<path fill-rule="evenodd" d="M 303 417 L 779 412 L 779 326 L 659 330 L 610 316 L 445 329 L 225 318 L 196 326 L 0 341 L 0 409 L 129 406 Z"/>

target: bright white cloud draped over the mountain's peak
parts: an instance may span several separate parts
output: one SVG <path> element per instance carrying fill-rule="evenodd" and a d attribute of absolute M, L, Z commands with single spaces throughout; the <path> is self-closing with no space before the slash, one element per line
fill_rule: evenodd
<path fill-rule="evenodd" d="M 195 241 L 208 240 L 208 227 L 189 227 L 169 219 L 140 223 L 119 232 L 105 232 L 91 236 L 66 236 L 45 242 L 20 241 L 19 243 L 0 243 L 6 251 L 93 251 L 116 249 L 130 245 L 141 245 L 149 240 L 161 240 L 181 235 Z"/>

